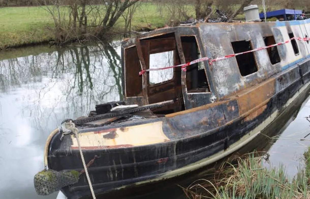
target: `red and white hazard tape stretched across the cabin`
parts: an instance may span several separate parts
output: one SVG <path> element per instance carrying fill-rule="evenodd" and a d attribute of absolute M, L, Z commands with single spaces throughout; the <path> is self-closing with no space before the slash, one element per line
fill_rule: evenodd
<path fill-rule="evenodd" d="M 246 54 L 246 53 L 250 53 L 250 52 L 255 52 L 255 51 L 267 49 L 267 48 L 274 47 L 274 46 L 280 46 L 280 45 L 283 45 L 285 43 L 290 43 L 290 41 L 294 40 L 294 39 L 297 39 L 299 41 L 310 41 L 310 38 L 308 38 L 308 37 L 305 37 L 305 38 L 302 38 L 302 37 L 296 37 L 295 38 L 295 37 L 293 37 L 290 40 L 287 40 L 285 42 L 276 43 L 276 44 L 272 44 L 270 46 L 265 46 L 265 47 L 259 47 L 259 48 L 256 48 L 254 50 L 250 50 L 250 51 L 246 51 L 246 52 L 239 52 L 239 53 L 236 53 L 236 54 L 226 55 L 224 57 L 218 57 L 218 58 L 215 58 L 215 59 L 213 59 L 212 57 L 203 57 L 203 58 L 199 58 L 199 59 L 190 61 L 190 62 L 188 62 L 186 64 L 179 64 L 177 66 L 168 66 L 168 67 L 163 67 L 163 68 L 151 68 L 151 69 L 147 69 L 147 70 L 141 70 L 139 72 L 139 75 L 143 75 L 147 71 L 166 70 L 166 69 L 175 68 L 175 67 L 181 67 L 183 71 L 186 71 L 187 66 L 190 66 L 190 65 L 196 64 L 198 62 L 202 62 L 202 61 L 208 61 L 209 65 L 212 65 L 212 63 L 215 62 L 215 61 L 224 60 L 224 59 L 227 59 L 227 58 L 230 58 L 230 57 L 236 57 L 237 55 L 242 55 L 242 54 Z"/>

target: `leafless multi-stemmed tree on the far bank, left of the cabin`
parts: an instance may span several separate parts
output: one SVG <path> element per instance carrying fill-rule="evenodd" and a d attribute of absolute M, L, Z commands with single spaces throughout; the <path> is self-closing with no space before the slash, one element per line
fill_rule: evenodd
<path fill-rule="evenodd" d="M 64 44 L 71 41 L 81 41 L 90 37 L 107 38 L 117 20 L 127 12 L 126 26 L 135 11 L 139 0 L 68 0 L 64 5 L 62 0 L 45 0 L 44 9 L 54 21 L 50 27 L 55 35 L 55 43 Z M 133 7 L 132 7 L 133 6 Z"/>

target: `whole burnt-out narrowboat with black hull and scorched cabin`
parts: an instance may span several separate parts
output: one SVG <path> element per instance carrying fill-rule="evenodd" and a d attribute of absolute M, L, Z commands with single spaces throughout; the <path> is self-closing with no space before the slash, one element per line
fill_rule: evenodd
<path fill-rule="evenodd" d="M 199 23 L 123 41 L 124 102 L 73 120 L 95 194 L 174 178 L 245 146 L 308 92 L 309 34 L 310 20 Z M 52 170 L 83 170 L 77 139 L 58 128 L 45 158 Z M 85 173 L 61 191 L 91 197 Z"/>

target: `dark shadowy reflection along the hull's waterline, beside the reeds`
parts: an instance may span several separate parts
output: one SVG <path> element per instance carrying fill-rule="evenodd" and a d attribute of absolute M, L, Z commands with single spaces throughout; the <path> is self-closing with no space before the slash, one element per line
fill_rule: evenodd
<path fill-rule="evenodd" d="M 153 183 L 136 185 L 136 186 L 127 186 L 121 190 L 111 190 L 102 194 L 96 195 L 97 199 L 107 199 L 107 198 L 126 198 L 126 199 L 157 199 L 163 195 L 166 198 L 178 198 L 186 199 L 186 195 L 181 187 L 187 188 L 197 179 L 214 179 L 214 172 L 222 166 L 226 161 L 231 161 L 235 157 L 242 156 L 250 152 L 268 152 L 272 147 L 276 137 L 281 135 L 286 127 L 295 119 L 296 115 L 299 113 L 299 110 L 304 106 L 304 104 L 309 100 L 309 91 L 308 88 L 303 92 L 300 97 L 294 101 L 281 115 L 274 120 L 261 134 L 259 134 L 254 140 L 246 144 L 238 151 L 230 154 L 227 157 L 205 167 L 202 167 L 198 170 L 177 176 L 171 179 L 157 181 Z M 268 138 L 268 137 L 269 138 Z M 83 199 L 92 199 L 91 196 L 83 197 Z"/>

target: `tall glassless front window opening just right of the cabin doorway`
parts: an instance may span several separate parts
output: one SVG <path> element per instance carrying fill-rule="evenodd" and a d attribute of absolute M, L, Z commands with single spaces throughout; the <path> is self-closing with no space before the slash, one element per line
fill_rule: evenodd
<path fill-rule="evenodd" d="M 181 42 L 186 63 L 202 57 L 195 36 L 182 36 Z M 188 66 L 186 70 L 186 87 L 187 93 L 210 92 L 204 62 Z"/>

